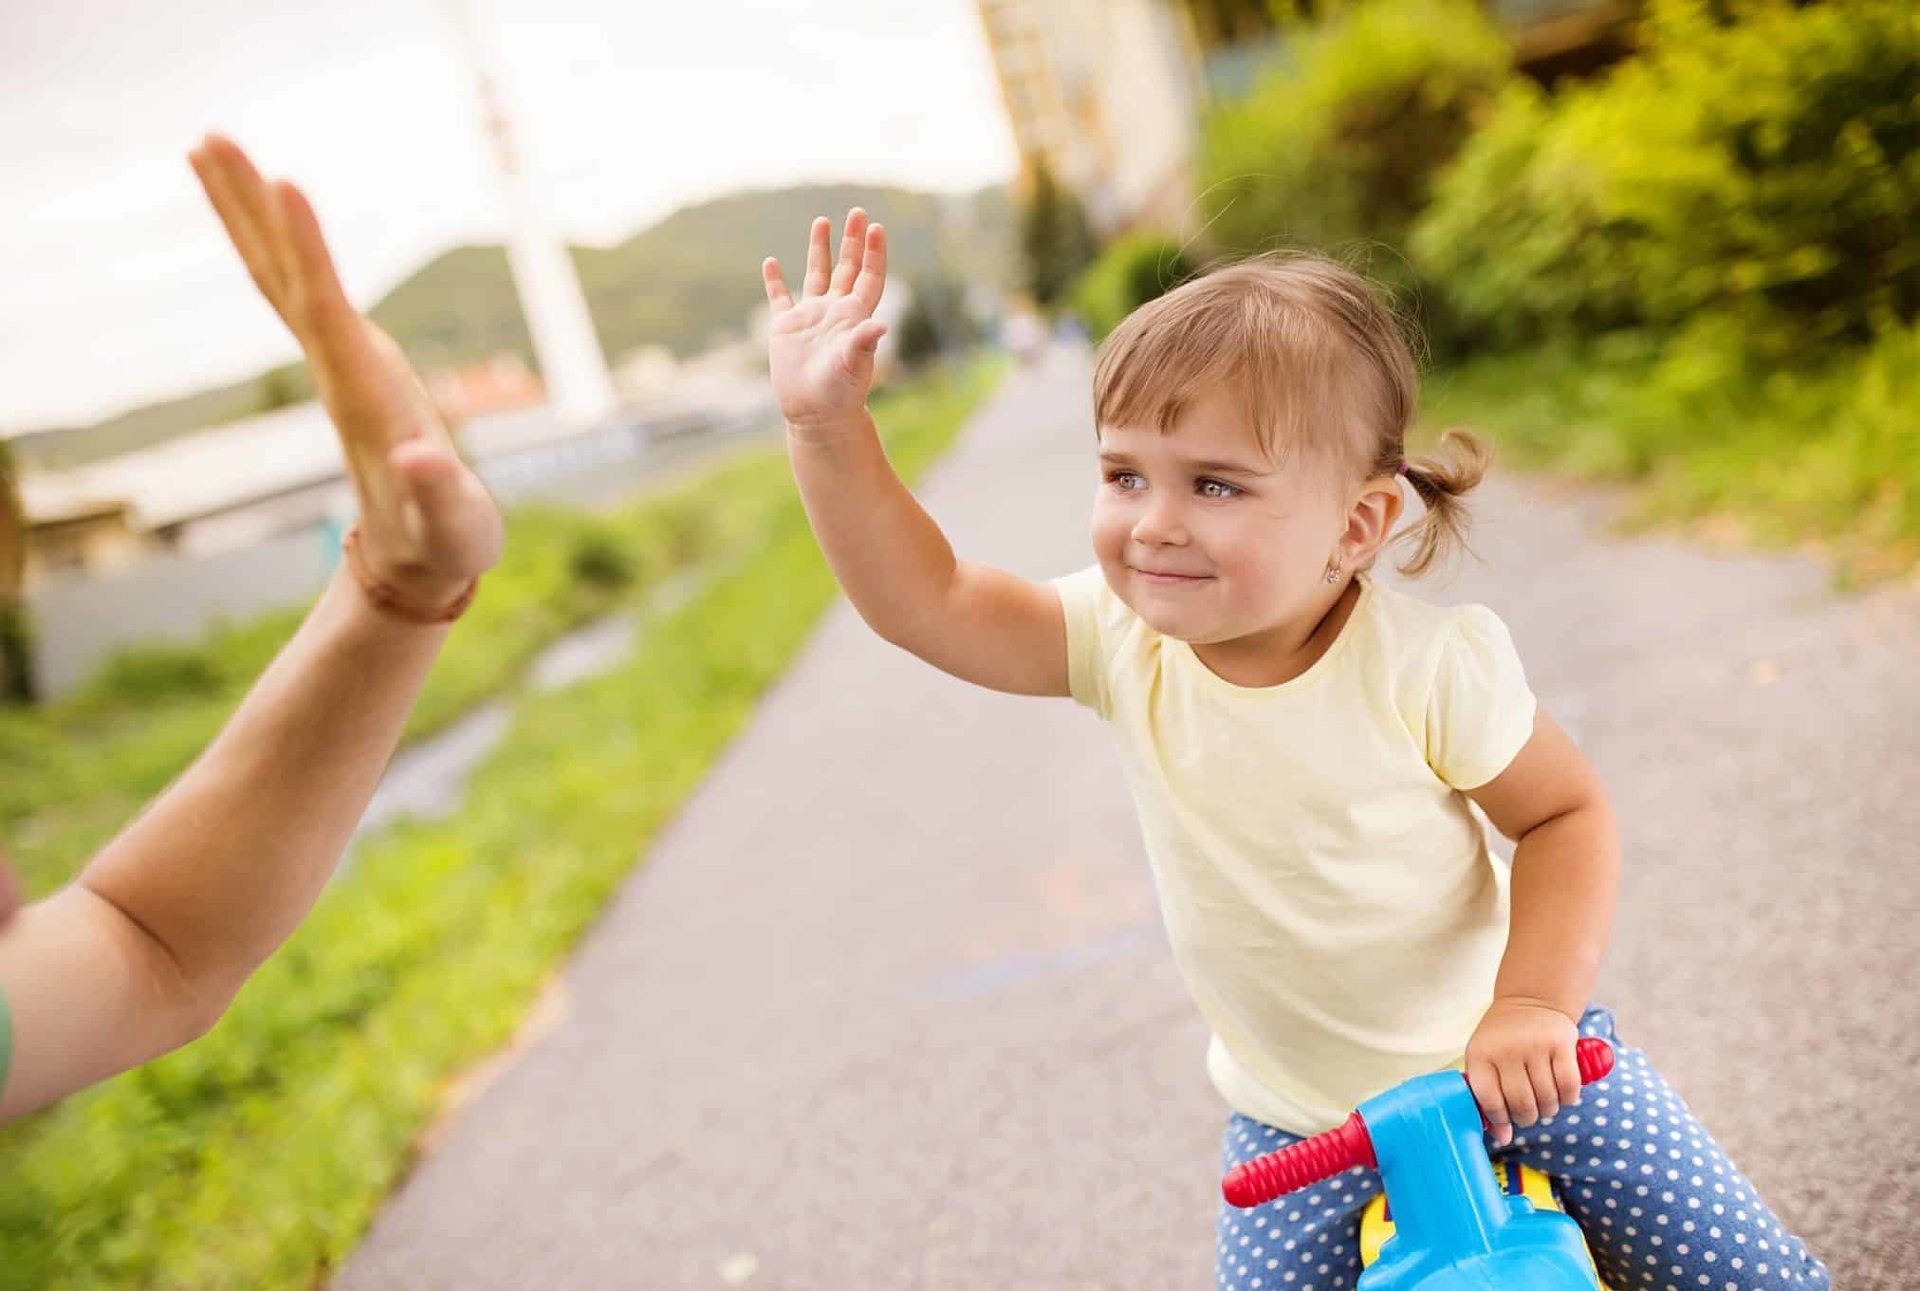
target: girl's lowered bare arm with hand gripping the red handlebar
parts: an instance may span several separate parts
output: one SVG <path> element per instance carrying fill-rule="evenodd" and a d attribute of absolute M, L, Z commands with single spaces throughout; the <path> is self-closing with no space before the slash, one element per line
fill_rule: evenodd
<path fill-rule="evenodd" d="M 1500 1143 L 1580 1101 L 1576 1022 L 1613 926 L 1620 838 L 1594 767 L 1551 717 L 1473 801 L 1517 840 L 1513 924 L 1467 1082 Z"/>

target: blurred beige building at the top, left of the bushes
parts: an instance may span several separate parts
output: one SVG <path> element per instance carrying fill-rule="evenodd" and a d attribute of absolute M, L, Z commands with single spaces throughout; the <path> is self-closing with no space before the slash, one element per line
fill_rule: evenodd
<path fill-rule="evenodd" d="M 1102 236 L 1179 229 L 1200 110 L 1200 52 L 1169 0 L 977 0 L 1020 184 L 1039 167 Z"/>

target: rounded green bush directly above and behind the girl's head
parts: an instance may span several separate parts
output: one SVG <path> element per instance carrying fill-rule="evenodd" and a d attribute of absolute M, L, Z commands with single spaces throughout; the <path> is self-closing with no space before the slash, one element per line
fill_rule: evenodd
<path fill-rule="evenodd" d="M 1306 29 L 1204 125 L 1212 236 L 1231 252 L 1382 242 L 1371 273 L 1407 284 L 1407 229 L 1509 67 L 1505 38 L 1469 0 L 1369 0 Z"/>

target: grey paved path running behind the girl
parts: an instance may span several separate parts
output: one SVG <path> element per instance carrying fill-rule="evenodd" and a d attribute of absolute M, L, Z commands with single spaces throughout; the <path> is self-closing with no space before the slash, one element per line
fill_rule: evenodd
<path fill-rule="evenodd" d="M 962 551 L 1087 561 L 1087 380 L 1012 378 L 941 467 Z M 1494 486 L 1486 563 L 1427 590 L 1507 617 L 1611 784 L 1626 1035 L 1836 1287 L 1910 1287 L 1920 599 L 1607 515 Z M 543 1012 L 336 1287 L 1210 1285 L 1223 1112 L 1104 732 L 847 607 Z"/>

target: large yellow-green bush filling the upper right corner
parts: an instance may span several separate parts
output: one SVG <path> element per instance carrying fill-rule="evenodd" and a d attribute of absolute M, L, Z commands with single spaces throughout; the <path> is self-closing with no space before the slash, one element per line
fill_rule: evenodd
<path fill-rule="evenodd" d="M 1496 342 L 1738 319 L 1782 357 L 1920 315 L 1920 10 L 1657 0 L 1645 50 L 1511 88 L 1440 181 L 1415 263 Z"/>

